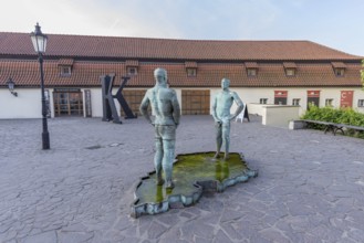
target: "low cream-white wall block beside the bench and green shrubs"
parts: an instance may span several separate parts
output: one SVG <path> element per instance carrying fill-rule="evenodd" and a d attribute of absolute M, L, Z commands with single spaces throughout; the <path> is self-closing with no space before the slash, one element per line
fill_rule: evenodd
<path fill-rule="evenodd" d="M 287 105 L 268 105 L 262 107 L 262 124 L 288 128 L 289 122 L 299 119 L 300 107 Z"/>

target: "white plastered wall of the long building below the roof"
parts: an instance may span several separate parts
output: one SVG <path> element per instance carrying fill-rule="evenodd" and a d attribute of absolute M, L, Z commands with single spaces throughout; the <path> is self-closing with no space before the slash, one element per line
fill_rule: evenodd
<path fill-rule="evenodd" d="M 54 117 L 54 107 L 53 107 L 53 88 L 46 88 L 50 93 L 50 104 L 52 117 Z M 92 104 L 92 116 L 102 117 L 103 116 L 103 105 L 102 105 L 102 89 L 101 87 L 93 88 L 82 88 L 91 91 L 91 104 Z M 138 89 L 138 88 L 133 88 Z M 145 88 L 141 88 L 145 89 Z M 208 89 L 208 88 L 174 88 L 177 93 L 179 104 L 181 104 L 181 91 L 183 89 Z M 214 96 L 221 88 L 209 88 L 210 89 L 210 105 L 212 104 Z M 288 91 L 288 105 L 292 105 L 293 98 L 300 98 L 300 115 L 305 112 L 306 101 L 308 101 L 308 91 L 320 91 L 320 107 L 325 106 L 325 99 L 332 98 L 333 106 L 340 107 L 341 91 L 354 91 L 353 96 L 353 108 L 357 112 L 364 113 L 364 107 L 357 107 L 357 101 L 364 99 L 364 91 L 360 87 L 357 88 L 343 88 L 343 87 L 325 87 L 325 88 L 271 88 L 271 87 L 231 87 L 231 91 L 235 91 L 240 96 L 241 101 L 245 104 L 257 104 L 260 98 L 268 98 L 268 105 L 274 103 L 274 91 Z M 12 119 L 12 118 L 41 118 L 42 117 L 42 104 L 41 104 L 41 94 L 40 88 L 17 88 L 18 97 L 13 96 L 8 88 L 0 88 L 0 119 Z M 117 92 L 117 87 L 113 89 L 113 94 Z M 116 109 L 119 113 L 121 106 L 115 101 Z M 183 108 L 183 107 L 181 107 Z M 233 104 L 231 113 L 236 109 Z M 84 109 L 85 110 L 85 109 Z"/>

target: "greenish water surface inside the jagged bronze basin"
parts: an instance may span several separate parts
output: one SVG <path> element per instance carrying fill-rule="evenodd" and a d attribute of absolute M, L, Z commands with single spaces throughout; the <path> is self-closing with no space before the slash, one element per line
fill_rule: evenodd
<path fill-rule="evenodd" d="M 196 192 L 194 186 L 196 181 L 218 181 L 222 182 L 241 175 L 246 169 L 246 163 L 237 152 L 230 154 L 230 159 L 214 159 L 215 152 L 201 152 L 190 155 L 179 155 L 178 161 L 174 165 L 174 182 L 176 187 L 170 190 L 165 184 L 156 184 L 156 175 L 150 175 L 144 179 L 136 189 L 138 203 L 159 203 L 170 196 L 191 197 Z"/>

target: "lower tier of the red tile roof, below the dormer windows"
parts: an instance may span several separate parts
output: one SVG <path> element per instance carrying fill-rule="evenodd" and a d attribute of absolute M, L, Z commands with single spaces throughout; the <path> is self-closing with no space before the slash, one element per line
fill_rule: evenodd
<path fill-rule="evenodd" d="M 128 87 L 150 87 L 155 84 L 153 72 L 164 67 L 171 87 L 219 87 L 222 77 L 235 87 L 294 87 L 294 86 L 357 86 L 361 64 L 346 64 L 345 75 L 337 77 L 327 63 L 297 63 L 295 76 L 287 76 L 282 63 L 260 63 L 257 77 L 248 77 L 245 65 L 231 63 L 199 63 L 196 77 L 188 77 L 185 62 L 139 62 L 137 75 L 132 76 Z M 61 76 L 58 61 L 44 61 L 44 84 L 48 87 L 101 86 L 100 76 L 115 73 L 116 82 L 126 75 L 125 62 L 74 61 L 71 76 Z M 17 86 L 40 86 L 38 61 L 0 60 L 0 86 L 12 77 Z"/>

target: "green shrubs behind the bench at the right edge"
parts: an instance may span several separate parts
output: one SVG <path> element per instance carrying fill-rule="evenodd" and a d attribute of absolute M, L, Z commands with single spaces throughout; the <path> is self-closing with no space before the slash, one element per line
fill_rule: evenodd
<path fill-rule="evenodd" d="M 319 108 L 316 106 L 310 106 L 301 118 L 364 127 L 364 114 L 355 112 L 353 108 L 337 109 L 332 107 Z M 311 128 L 323 129 L 324 126 L 311 125 Z M 364 138 L 364 131 L 356 133 L 355 130 L 349 129 L 347 134 L 350 136 L 357 136 Z"/>

